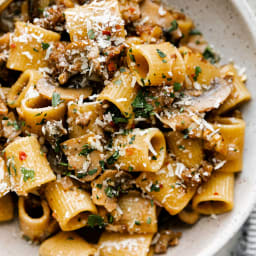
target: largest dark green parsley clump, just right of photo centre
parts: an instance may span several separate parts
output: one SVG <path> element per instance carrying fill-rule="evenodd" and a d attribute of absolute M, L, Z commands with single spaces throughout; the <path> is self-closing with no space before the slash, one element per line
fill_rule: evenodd
<path fill-rule="evenodd" d="M 142 91 L 139 91 L 136 98 L 132 102 L 133 111 L 135 117 L 144 117 L 148 118 L 153 114 L 153 106 L 147 103 L 145 94 Z"/>

